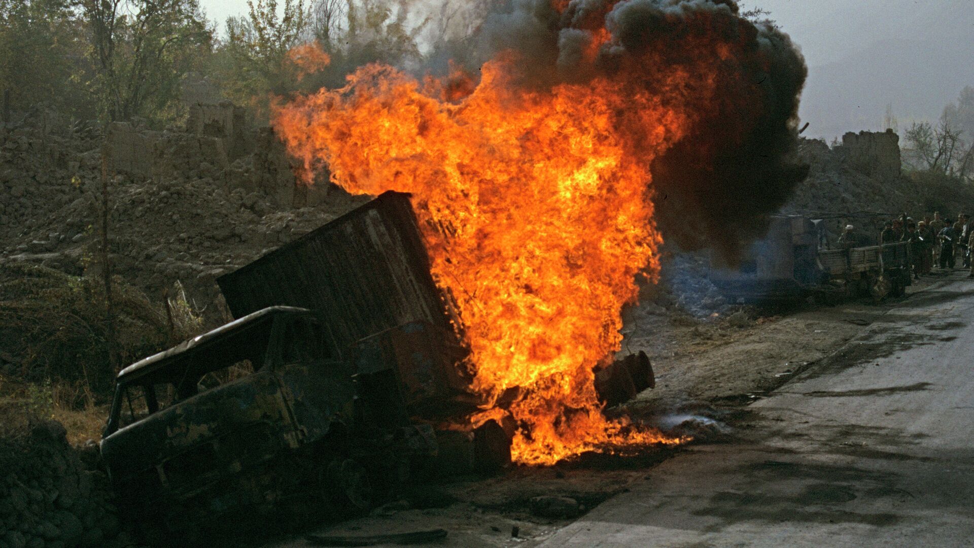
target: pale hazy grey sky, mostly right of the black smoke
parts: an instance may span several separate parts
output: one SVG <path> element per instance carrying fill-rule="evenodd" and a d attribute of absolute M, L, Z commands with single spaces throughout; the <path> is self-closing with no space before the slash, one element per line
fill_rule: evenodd
<path fill-rule="evenodd" d="M 457 0 L 463 1 L 463 0 Z M 245 0 L 200 0 L 222 28 Z M 974 0 L 750 0 L 799 44 L 809 67 L 806 135 L 882 130 L 886 105 L 900 120 L 935 119 L 974 86 Z"/>

